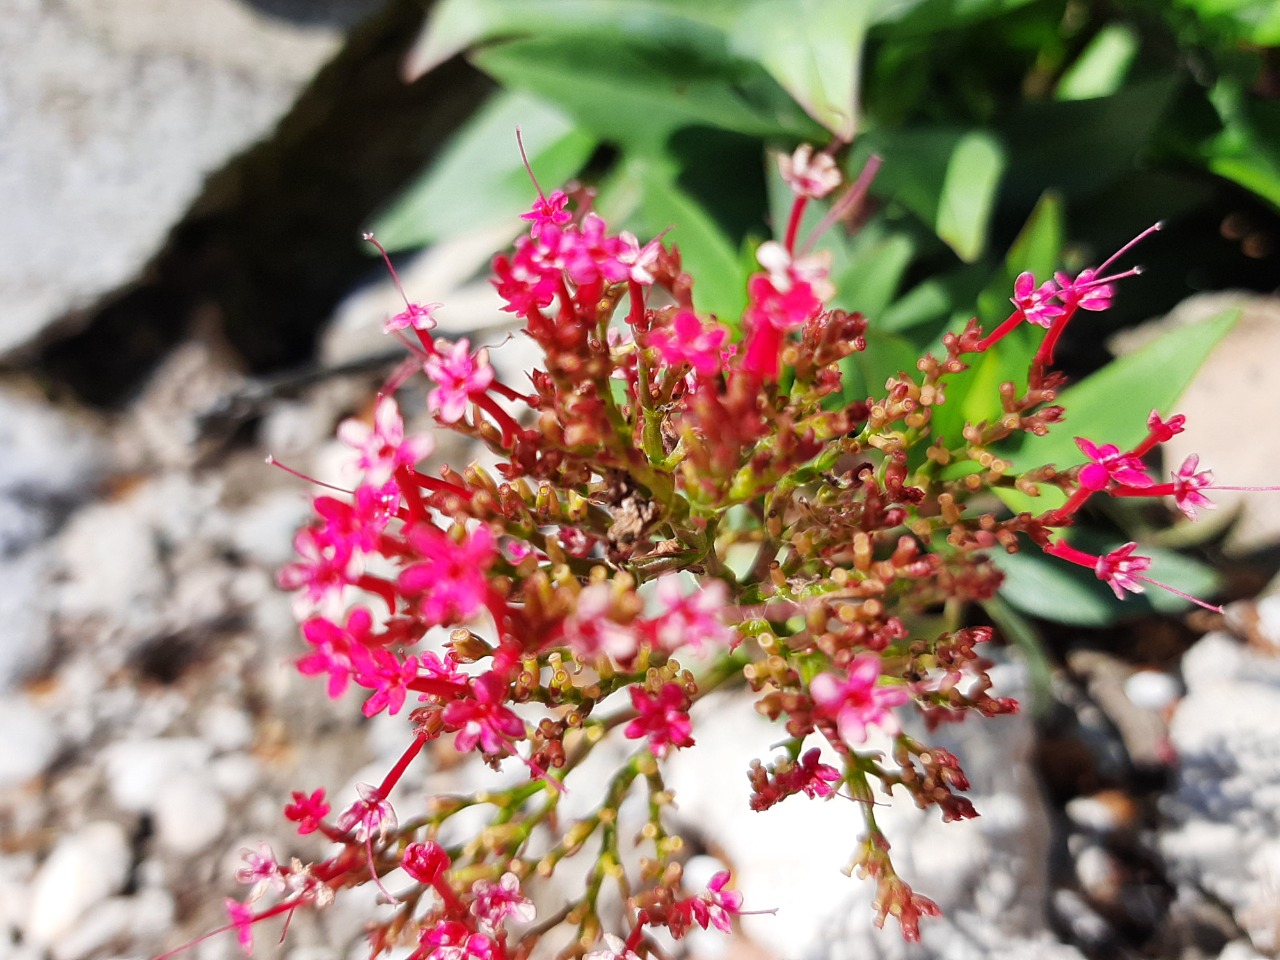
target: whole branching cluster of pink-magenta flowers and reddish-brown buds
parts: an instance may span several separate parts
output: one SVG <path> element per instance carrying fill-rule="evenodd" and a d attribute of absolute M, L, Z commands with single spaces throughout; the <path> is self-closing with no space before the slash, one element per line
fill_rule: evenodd
<path fill-rule="evenodd" d="M 873 172 L 833 209 L 856 202 Z M 827 264 L 797 238 L 805 205 L 840 173 L 804 147 L 783 174 L 795 209 L 783 239 L 760 246 L 735 323 L 699 311 L 675 247 L 612 233 L 589 195 L 557 191 L 539 192 L 527 233 L 493 261 L 502 308 L 543 353 L 527 387 L 504 384 L 468 340 L 434 339 L 439 305 L 406 297 L 387 324 L 416 335 L 412 360 L 371 422 L 340 425 L 360 481 L 349 497 L 315 498 L 280 584 L 296 591 L 307 644 L 298 668 L 324 677 L 330 696 L 364 689 L 366 716 L 406 713 L 408 746 L 335 819 L 323 790 L 294 792 L 285 817 L 333 854 L 289 865 L 251 856 L 248 900 L 229 905 L 246 948 L 255 923 L 366 882 L 385 899 L 371 956 L 524 957 L 567 924 L 568 954 L 630 959 L 695 925 L 730 929 L 742 900 L 727 872 L 685 887 L 662 762 L 694 748 L 692 705 L 742 678 L 785 731 L 771 765 L 744 763 L 751 806 L 801 794 L 860 801 L 851 868 L 874 879 L 878 919 L 895 916 L 915 940 L 937 913 L 896 873 L 873 787 L 905 790 L 945 819 L 977 812 L 956 758 L 900 717 L 1016 709 L 991 692 L 978 652 L 991 631 L 954 622 L 940 635 L 938 611 L 991 598 L 989 550 L 1020 540 L 1089 566 L 1117 594 L 1140 590 L 1152 581 L 1133 544 L 1093 557 L 1059 530 L 1103 493 L 1172 497 L 1194 516 L 1212 476 L 1192 458 L 1167 484 L 1148 477 L 1142 457 L 1181 429 L 1157 415 L 1133 451 L 1079 440 L 1085 462 L 1070 470 L 1015 476 L 992 452 L 1061 419 L 1053 344 L 1134 273 L 1108 275 L 1111 260 L 1074 279 L 1019 276 L 1015 311 L 989 335 L 970 321 L 945 338 L 945 356 L 925 356 L 882 394 L 842 399 L 841 362 L 864 348 L 868 321 L 828 308 Z M 1023 321 L 1047 328 L 1024 392 L 1006 384 L 996 424 L 937 434 L 948 380 Z M 486 444 L 495 471 L 424 466 L 433 443 L 408 434 L 396 397 L 406 370 L 429 383 L 426 412 Z M 970 468 L 943 468 L 957 463 Z M 1056 483 L 1066 503 L 993 512 L 987 492 L 1015 481 Z M 566 820 L 566 782 L 608 737 L 632 741 L 628 759 L 594 812 Z M 490 765 L 509 758 L 527 777 L 398 817 L 388 797 L 429 744 Z M 623 829 L 636 794 L 646 820 Z M 488 826 L 460 837 L 462 810 Z M 576 892 L 543 884 L 584 850 L 594 864 Z M 275 902 L 257 906 L 269 891 Z M 621 915 L 607 909 L 617 901 Z"/>

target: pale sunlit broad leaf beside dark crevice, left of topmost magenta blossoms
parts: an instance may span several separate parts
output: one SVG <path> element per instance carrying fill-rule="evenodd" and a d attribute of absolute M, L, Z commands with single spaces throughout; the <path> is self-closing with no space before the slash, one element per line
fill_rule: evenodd
<path fill-rule="evenodd" d="M 534 197 L 516 145 L 517 127 L 529 163 L 548 191 L 573 177 L 596 146 L 545 101 L 499 92 L 417 182 L 375 218 L 372 229 L 383 244 L 407 250 L 503 221 L 516 225 Z"/>

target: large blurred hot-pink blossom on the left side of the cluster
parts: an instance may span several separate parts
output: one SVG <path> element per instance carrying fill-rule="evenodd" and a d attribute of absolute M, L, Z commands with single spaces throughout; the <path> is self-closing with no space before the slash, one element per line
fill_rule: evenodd
<path fill-rule="evenodd" d="M 477 526 L 458 543 L 433 524 L 416 524 L 408 541 L 420 559 L 397 581 L 401 593 L 416 596 L 422 618 L 431 625 L 470 620 L 489 594 L 485 572 L 498 556 L 493 532 Z"/>

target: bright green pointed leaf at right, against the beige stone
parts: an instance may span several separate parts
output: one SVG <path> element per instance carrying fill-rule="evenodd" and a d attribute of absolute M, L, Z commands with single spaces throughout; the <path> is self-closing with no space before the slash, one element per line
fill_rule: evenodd
<path fill-rule="evenodd" d="M 1065 424 L 1047 436 L 1027 438 L 1018 449 L 1002 451 L 1001 456 L 1019 471 L 1044 463 L 1066 468 L 1082 462 L 1076 436 L 1114 443 L 1120 449 L 1135 447 L 1147 435 L 1151 411 L 1166 417 L 1175 412 L 1178 398 L 1201 364 L 1239 317 L 1239 308 L 1228 310 L 1212 320 L 1170 330 L 1112 361 L 1059 394 L 1059 404 L 1066 408 Z M 1088 317 L 1075 319 L 1082 321 Z"/>

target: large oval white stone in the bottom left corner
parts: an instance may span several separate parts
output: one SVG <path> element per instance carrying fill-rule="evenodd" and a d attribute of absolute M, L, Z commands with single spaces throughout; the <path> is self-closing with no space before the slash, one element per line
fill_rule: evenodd
<path fill-rule="evenodd" d="M 124 829 L 95 820 L 58 841 L 32 883 L 31 913 L 23 933 L 35 946 L 67 937 L 95 904 L 119 892 L 129 876 Z"/>

